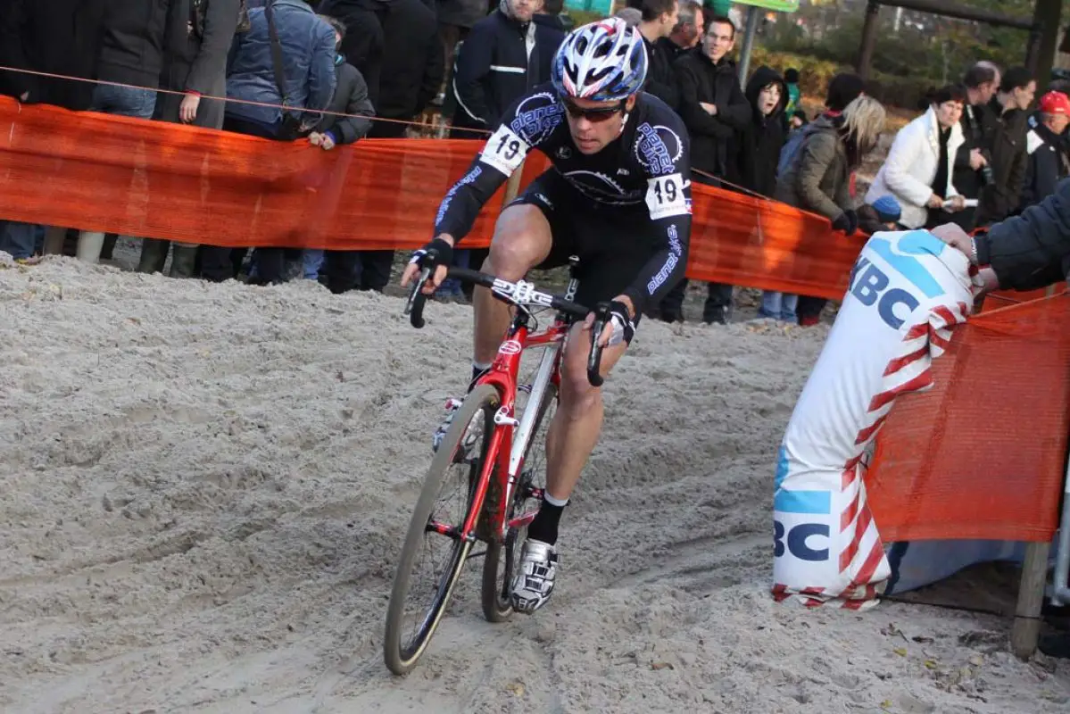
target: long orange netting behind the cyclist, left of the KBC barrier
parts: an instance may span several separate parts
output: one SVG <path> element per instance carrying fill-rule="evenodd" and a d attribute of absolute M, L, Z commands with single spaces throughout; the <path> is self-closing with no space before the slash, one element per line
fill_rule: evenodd
<path fill-rule="evenodd" d="M 324 152 L 0 98 L 12 221 L 231 246 L 416 248 L 480 141 L 365 139 Z M 522 188 L 549 166 L 533 152 Z M 487 245 L 505 187 L 464 245 Z M 839 299 L 859 238 L 782 203 L 693 185 L 688 276 Z"/>

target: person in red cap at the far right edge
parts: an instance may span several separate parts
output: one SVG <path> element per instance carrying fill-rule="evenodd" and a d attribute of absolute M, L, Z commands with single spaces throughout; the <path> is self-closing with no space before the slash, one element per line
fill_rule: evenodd
<path fill-rule="evenodd" d="M 1055 192 L 1055 186 L 1070 176 L 1070 152 L 1063 133 L 1070 125 L 1070 97 L 1063 92 L 1048 92 L 1040 98 L 1040 111 L 1029 118 L 1025 150 L 1025 185 L 1021 208 L 1025 209 Z"/>

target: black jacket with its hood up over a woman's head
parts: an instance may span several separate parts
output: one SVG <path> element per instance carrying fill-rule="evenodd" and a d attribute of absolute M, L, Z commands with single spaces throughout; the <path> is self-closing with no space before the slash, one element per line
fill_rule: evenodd
<path fill-rule="evenodd" d="M 780 87 L 780 102 L 768 115 L 758 106 L 758 95 L 769 85 Z M 743 185 L 763 196 L 773 197 L 777 189 L 777 163 L 788 133 L 783 113 L 788 106 L 788 85 L 776 70 L 760 66 L 747 82 L 747 101 L 750 102 L 751 121 L 744 132 L 738 154 Z"/>

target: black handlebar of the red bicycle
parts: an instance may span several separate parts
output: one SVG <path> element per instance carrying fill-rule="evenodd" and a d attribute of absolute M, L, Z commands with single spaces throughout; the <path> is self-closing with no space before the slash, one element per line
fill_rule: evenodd
<path fill-rule="evenodd" d="M 412 326 L 417 330 L 423 328 L 425 324 L 424 305 L 427 304 L 427 295 L 424 294 L 424 286 L 427 284 L 427 280 L 431 276 L 431 271 L 433 270 L 434 268 L 421 269 L 419 276 L 413 283 L 412 289 L 409 291 L 409 301 L 406 303 L 403 314 L 409 316 L 409 321 L 412 323 Z M 592 310 L 570 300 L 565 300 L 564 298 L 560 298 L 549 292 L 540 292 L 535 289 L 535 285 L 533 283 L 528 283 L 526 280 L 517 280 L 516 283 L 511 283 L 487 273 L 469 270 L 468 268 L 457 268 L 455 265 L 449 267 L 447 276 L 455 277 L 465 283 L 482 285 L 490 290 L 491 294 L 493 294 L 498 300 L 513 303 L 514 305 L 537 305 L 539 307 L 550 307 L 578 320 L 583 320 L 587 315 L 594 313 L 595 322 L 591 331 L 591 352 L 587 354 L 587 381 L 591 382 L 592 386 L 602 385 L 605 382 L 600 374 L 602 348 L 598 346 L 597 337 L 601 333 L 606 322 L 609 321 L 608 302 L 599 303 L 598 307 Z"/>

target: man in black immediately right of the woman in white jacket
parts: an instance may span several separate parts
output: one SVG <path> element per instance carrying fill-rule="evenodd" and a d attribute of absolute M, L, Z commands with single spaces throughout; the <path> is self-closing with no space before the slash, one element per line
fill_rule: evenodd
<path fill-rule="evenodd" d="M 966 102 L 962 112 L 963 145 L 954 157 L 951 183 L 965 199 L 977 200 L 981 195 L 983 174 L 992 155 L 992 137 L 995 125 L 989 103 L 999 87 L 999 67 L 992 62 L 978 62 L 966 71 L 962 83 L 966 88 Z M 966 209 L 950 216 L 951 221 L 969 231 L 977 224 L 977 209 Z"/>

